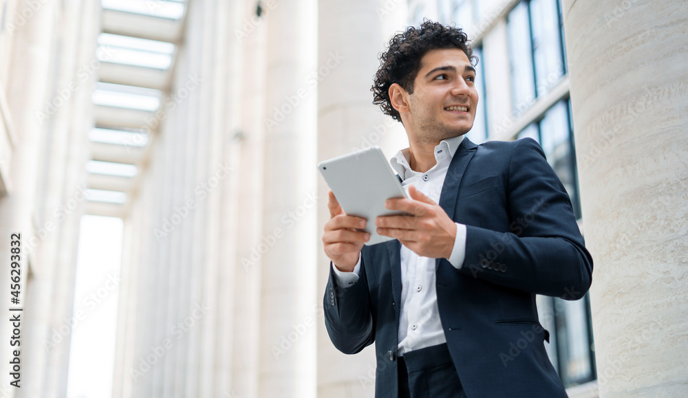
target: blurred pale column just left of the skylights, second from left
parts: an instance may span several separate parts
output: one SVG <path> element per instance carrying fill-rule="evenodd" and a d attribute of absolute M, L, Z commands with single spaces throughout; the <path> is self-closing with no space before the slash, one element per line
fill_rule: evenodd
<path fill-rule="evenodd" d="M 70 339 L 76 328 L 71 327 L 74 309 L 84 311 L 81 300 L 75 303 L 74 288 L 76 261 L 81 217 L 85 212 L 86 188 L 85 164 L 90 157 L 88 132 L 93 124 L 92 93 L 97 72 L 89 74 L 87 79 L 78 75 L 83 65 L 88 65 L 96 57 L 96 39 L 100 32 L 100 5 L 87 1 L 65 3 L 59 16 L 62 40 L 59 71 L 56 74 L 54 89 L 62 96 L 69 91 L 69 100 L 58 109 L 50 122 L 50 138 L 46 137 L 43 146 L 50 153 L 49 173 L 45 181 L 44 223 L 56 224 L 56 231 L 43 242 L 42 252 L 46 254 L 43 261 L 45 270 L 52 268 L 50 280 L 52 295 L 41 305 L 50 313 L 50 333 L 46 340 L 54 343 L 55 331 L 63 335 L 65 327 L 70 327 L 63 341 L 45 350 L 45 341 L 41 351 L 47 355 L 47 374 L 43 396 L 63 397 L 67 390 L 67 372 L 69 371 Z M 55 95 L 55 94 L 54 94 Z M 55 95 L 54 98 L 57 98 Z M 56 212 L 57 211 L 57 212 Z M 56 216 L 56 214 L 58 214 Z M 63 217 L 64 215 L 64 217 Z M 76 304 L 76 305 L 75 305 Z M 91 314 L 86 312 L 88 318 Z M 81 312 L 79 312 L 80 314 Z"/>

